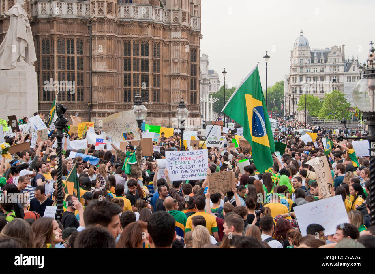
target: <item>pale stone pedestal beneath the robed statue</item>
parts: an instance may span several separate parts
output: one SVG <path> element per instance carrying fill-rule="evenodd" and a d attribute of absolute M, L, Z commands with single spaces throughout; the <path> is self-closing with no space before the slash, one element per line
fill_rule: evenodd
<path fill-rule="evenodd" d="M 35 67 L 17 63 L 10 70 L 0 70 L 1 119 L 16 115 L 30 118 L 38 111 L 38 85 Z"/>

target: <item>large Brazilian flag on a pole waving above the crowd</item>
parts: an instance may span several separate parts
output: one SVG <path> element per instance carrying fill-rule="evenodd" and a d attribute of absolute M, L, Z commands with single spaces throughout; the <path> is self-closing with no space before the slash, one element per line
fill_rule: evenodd
<path fill-rule="evenodd" d="M 273 165 L 275 151 L 270 119 L 260 83 L 258 66 L 233 93 L 222 112 L 243 127 L 243 137 L 252 147 L 252 157 L 261 172 Z M 256 152 L 256 153 L 254 153 Z"/>

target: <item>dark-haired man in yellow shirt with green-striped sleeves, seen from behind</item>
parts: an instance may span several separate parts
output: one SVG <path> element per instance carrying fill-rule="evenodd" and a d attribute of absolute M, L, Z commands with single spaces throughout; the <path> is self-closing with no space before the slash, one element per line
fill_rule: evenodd
<path fill-rule="evenodd" d="M 208 229 L 208 232 L 210 232 L 210 235 L 213 235 L 216 241 L 219 241 L 219 234 L 218 234 L 219 229 L 217 228 L 216 218 L 204 211 L 205 205 L 206 205 L 206 200 L 204 196 L 197 196 L 195 198 L 195 206 L 198 209 L 198 211 L 194 213 L 193 215 L 190 215 L 189 217 L 187 217 L 185 233 L 187 231 L 192 230 L 192 217 L 200 215 L 200 216 L 203 216 L 204 219 L 206 220 L 206 228 Z M 211 210 L 211 208 L 208 208 L 208 210 Z"/>

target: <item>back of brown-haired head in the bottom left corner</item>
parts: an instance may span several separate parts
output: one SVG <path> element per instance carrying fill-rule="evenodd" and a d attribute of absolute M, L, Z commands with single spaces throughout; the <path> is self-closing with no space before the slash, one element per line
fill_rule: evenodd
<path fill-rule="evenodd" d="M 1 239 L 13 239 L 21 248 L 35 248 L 35 235 L 31 226 L 23 219 L 15 218 L 7 223 L 0 233 Z"/>

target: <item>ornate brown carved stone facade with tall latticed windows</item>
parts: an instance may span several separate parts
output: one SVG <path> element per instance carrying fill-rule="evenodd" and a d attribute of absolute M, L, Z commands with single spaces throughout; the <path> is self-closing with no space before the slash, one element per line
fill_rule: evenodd
<path fill-rule="evenodd" d="M 104 117 L 129 110 L 139 93 L 147 123 L 172 126 L 183 97 L 189 118 L 200 125 L 201 0 L 124 2 L 25 1 L 37 54 L 39 111 L 48 113 L 57 94 L 46 88 L 52 79 L 68 118 L 78 112 L 87 121 L 92 103 L 90 120 L 100 125 Z M 0 3 L 2 42 L 15 1 Z"/>

